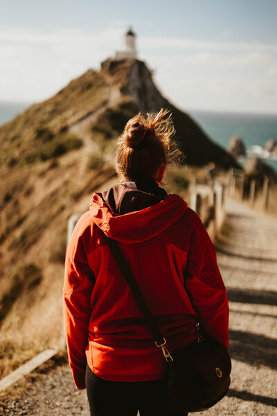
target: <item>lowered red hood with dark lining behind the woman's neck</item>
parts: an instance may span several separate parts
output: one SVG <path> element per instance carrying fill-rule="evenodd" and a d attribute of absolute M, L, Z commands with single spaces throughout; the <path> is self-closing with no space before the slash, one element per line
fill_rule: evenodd
<path fill-rule="evenodd" d="M 127 206 L 132 211 L 126 212 Z M 105 194 L 93 193 L 90 214 L 111 239 L 131 244 L 161 234 L 183 216 L 186 207 L 187 203 L 177 195 L 163 191 L 162 196 L 157 196 L 119 184 Z"/>

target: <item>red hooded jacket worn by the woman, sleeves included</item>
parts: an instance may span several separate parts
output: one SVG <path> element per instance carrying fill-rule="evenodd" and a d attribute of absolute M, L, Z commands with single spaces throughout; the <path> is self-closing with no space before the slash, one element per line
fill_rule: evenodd
<path fill-rule="evenodd" d="M 166 367 L 98 227 L 118 241 L 170 352 L 197 338 L 184 279 L 202 327 L 228 346 L 226 290 L 201 220 L 177 195 L 120 184 L 93 194 L 66 252 L 64 322 L 77 388 L 87 363 L 111 381 L 159 379 Z"/>

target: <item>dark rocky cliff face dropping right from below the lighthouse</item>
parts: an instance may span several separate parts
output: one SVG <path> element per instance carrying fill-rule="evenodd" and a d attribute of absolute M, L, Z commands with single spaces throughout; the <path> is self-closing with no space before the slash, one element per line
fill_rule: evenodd
<path fill-rule="evenodd" d="M 161 95 L 144 62 L 109 59 L 102 62 L 102 69 L 114 78 L 114 82 L 118 82 L 118 73 L 125 71 L 125 77 L 119 81 L 120 92 L 131 98 L 139 111 L 157 112 L 163 107 L 172 112 L 176 137 L 185 154 L 184 163 L 204 166 L 214 162 L 223 169 L 240 167 L 235 158 L 215 144 L 186 112 L 177 109 Z"/>

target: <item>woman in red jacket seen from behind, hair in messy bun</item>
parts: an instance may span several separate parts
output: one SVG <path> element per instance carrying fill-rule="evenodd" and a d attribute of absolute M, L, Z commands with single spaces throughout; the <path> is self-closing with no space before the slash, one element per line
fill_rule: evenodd
<path fill-rule="evenodd" d="M 109 250 L 115 239 L 150 311 L 175 352 L 202 327 L 226 347 L 229 308 L 213 244 L 195 212 L 161 188 L 180 155 L 170 115 L 141 113 L 118 139 L 123 183 L 94 193 L 66 253 L 64 320 L 69 364 L 87 388 L 91 415 L 173 415 L 166 408 L 166 361 Z"/>

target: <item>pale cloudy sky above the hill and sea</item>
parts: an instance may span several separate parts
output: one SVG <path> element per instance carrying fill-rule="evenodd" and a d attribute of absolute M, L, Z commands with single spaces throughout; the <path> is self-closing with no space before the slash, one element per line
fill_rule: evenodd
<path fill-rule="evenodd" d="M 277 0 L 0 0 L 0 101 L 35 103 L 123 47 L 181 110 L 277 112 Z"/>

